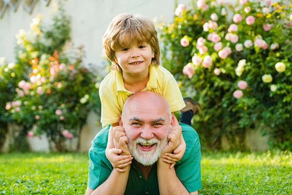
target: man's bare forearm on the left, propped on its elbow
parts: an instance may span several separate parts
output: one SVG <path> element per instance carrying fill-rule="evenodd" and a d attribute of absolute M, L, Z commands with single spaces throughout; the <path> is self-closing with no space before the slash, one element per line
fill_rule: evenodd
<path fill-rule="evenodd" d="M 127 166 L 126 172 L 118 172 L 115 169 L 112 170 L 109 178 L 95 190 L 87 188 L 85 195 L 124 195 L 128 176 L 130 171 L 130 165 Z"/>

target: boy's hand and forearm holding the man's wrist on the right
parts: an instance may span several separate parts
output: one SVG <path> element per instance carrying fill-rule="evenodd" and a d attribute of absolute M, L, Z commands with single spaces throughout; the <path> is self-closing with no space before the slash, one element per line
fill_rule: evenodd
<path fill-rule="evenodd" d="M 184 152 L 185 152 L 185 148 L 186 148 L 186 144 L 185 144 L 183 136 L 182 136 L 182 142 L 179 145 L 179 147 L 173 151 L 174 154 L 170 154 L 170 153 L 164 154 L 163 161 L 168 163 L 168 164 L 171 164 L 169 167 L 170 169 L 172 167 L 174 167 L 176 162 L 178 162 L 182 159 Z"/>

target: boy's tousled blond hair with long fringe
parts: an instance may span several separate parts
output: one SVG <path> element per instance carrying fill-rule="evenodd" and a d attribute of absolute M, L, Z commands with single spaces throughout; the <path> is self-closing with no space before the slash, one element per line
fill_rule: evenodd
<path fill-rule="evenodd" d="M 156 66 L 160 64 L 157 31 L 151 20 L 141 15 L 133 16 L 128 13 L 119 14 L 113 18 L 103 36 L 103 48 L 115 68 L 119 68 L 115 58 L 115 50 L 126 47 L 126 42 L 147 42 L 154 52 L 151 64 Z"/>

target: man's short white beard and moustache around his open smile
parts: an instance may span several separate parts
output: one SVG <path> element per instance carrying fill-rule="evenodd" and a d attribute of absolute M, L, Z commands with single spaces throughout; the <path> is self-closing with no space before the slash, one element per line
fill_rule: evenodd
<path fill-rule="evenodd" d="M 156 148 L 151 151 L 142 151 L 138 144 L 156 144 Z M 164 150 L 164 147 L 167 145 L 168 141 L 165 138 L 164 140 L 158 140 L 158 139 L 143 139 L 143 138 L 137 138 L 135 140 L 129 140 L 128 142 L 128 148 L 135 160 L 139 162 L 140 164 L 143 164 L 144 166 L 150 166 L 153 165 L 158 158 L 161 156 L 162 151 Z"/>

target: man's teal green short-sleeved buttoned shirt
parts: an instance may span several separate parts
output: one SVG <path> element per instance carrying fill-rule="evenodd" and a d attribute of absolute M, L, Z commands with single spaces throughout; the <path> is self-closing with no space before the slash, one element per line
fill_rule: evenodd
<path fill-rule="evenodd" d="M 183 158 L 174 166 L 176 175 L 188 192 L 201 189 L 201 145 L 197 132 L 189 125 L 180 123 L 186 150 Z M 89 150 L 88 187 L 96 189 L 110 176 L 113 167 L 105 151 L 108 143 L 110 125 L 101 130 L 92 140 Z M 114 185 L 114 184 L 112 184 Z M 125 195 L 159 195 L 157 166 L 152 167 L 147 180 L 141 171 L 131 164 Z"/>

